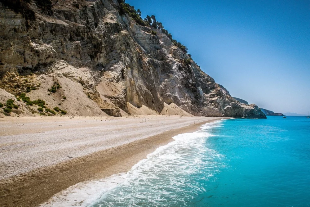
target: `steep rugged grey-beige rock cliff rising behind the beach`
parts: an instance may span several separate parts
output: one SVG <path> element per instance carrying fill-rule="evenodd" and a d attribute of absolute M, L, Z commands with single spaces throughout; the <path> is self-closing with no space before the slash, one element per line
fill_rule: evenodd
<path fill-rule="evenodd" d="M 174 103 L 195 116 L 266 118 L 161 30 L 138 25 L 119 7 L 116 0 L 0 2 L 0 87 L 72 115 L 119 116 L 128 103 L 160 113 Z M 49 93 L 56 83 L 61 88 Z"/>

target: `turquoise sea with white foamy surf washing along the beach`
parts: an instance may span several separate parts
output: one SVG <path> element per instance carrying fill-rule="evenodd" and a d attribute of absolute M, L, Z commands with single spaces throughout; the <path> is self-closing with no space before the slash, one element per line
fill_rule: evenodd
<path fill-rule="evenodd" d="M 310 119 L 226 119 L 174 137 L 91 206 L 310 206 Z"/>

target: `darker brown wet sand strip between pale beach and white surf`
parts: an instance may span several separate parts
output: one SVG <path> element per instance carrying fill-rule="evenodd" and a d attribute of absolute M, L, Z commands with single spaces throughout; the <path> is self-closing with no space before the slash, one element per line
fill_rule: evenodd
<path fill-rule="evenodd" d="M 171 129 L 138 141 L 98 151 L 0 180 L 1 206 L 38 206 L 53 195 L 80 182 L 102 179 L 128 172 L 173 136 L 197 131 L 202 124 L 223 119 L 210 118 L 185 127 Z"/>

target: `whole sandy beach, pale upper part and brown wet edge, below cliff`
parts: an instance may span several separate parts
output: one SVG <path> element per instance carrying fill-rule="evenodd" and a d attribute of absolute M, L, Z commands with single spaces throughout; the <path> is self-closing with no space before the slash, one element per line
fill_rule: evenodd
<path fill-rule="evenodd" d="M 124 173 L 216 117 L 0 119 L 0 206 L 37 206 L 79 182 Z"/>

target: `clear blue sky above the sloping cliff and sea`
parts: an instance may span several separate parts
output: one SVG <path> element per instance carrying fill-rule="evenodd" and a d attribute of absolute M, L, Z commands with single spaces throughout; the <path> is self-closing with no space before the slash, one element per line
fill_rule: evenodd
<path fill-rule="evenodd" d="M 310 110 L 310 0 L 126 0 L 155 15 L 201 69 L 274 112 Z"/>

